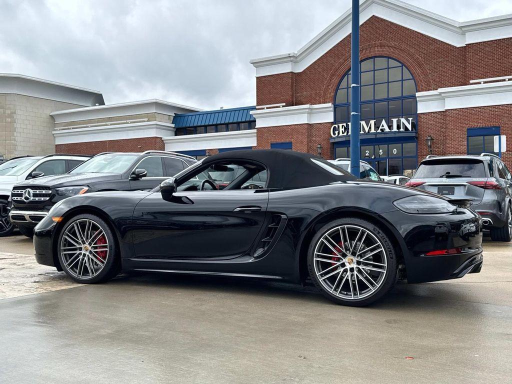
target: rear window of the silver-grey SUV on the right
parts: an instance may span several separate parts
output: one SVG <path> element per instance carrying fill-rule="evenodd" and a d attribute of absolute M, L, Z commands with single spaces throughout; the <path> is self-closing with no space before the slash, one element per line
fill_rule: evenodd
<path fill-rule="evenodd" d="M 471 159 L 428 161 L 421 163 L 414 174 L 415 179 L 459 177 L 487 177 L 483 162 Z"/>

